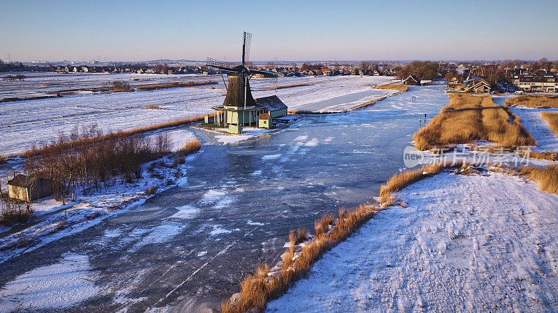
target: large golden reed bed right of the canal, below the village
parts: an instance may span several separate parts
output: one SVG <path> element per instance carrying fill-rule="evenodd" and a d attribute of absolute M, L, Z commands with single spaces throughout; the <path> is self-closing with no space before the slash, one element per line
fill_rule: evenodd
<path fill-rule="evenodd" d="M 413 139 L 418 150 L 472 141 L 490 141 L 502 147 L 536 145 L 518 115 L 492 96 L 452 94 L 450 103 Z"/>

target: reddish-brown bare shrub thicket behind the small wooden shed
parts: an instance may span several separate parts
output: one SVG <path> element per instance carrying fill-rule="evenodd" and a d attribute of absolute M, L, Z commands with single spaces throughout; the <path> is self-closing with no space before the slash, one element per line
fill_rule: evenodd
<path fill-rule="evenodd" d="M 170 153 L 167 134 L 154 139 L 142 135 L 109 136 L 98 140 L 94 127 L 75 130 L 70 136 L 41 147 L 40 154 L 31 154 L 25 171 L 35 177 L 52 180 L 53 193 L 60 199 L 76 186 L 96 190 L 114 184 L 116 178 L 130 181 L 141 177 L 141 166 Z"/>

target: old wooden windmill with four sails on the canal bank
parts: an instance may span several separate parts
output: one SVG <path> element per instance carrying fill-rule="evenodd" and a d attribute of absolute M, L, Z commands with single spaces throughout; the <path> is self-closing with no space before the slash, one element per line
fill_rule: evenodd
<path fill-rule="evenodd" d="M 262 104 L 259 104 L 257 100 L 252 97 L 250 79 L 256 74 L 271 79 L 277 79 L 278 75 L 276 72 L 254 70 L 246 66 L 250 58 L 251 41 L 252 34 L 246 33 L 245 31 L 242 40 L 242 63 L 239 65 L 207 58 L 206 67 L 211 67 L 220 70 L 221 73 L 227 74 L 229 81 L 227 86 L 223 78 L 223 82 L 227 88 L 227 95 L 225 97 L 225 102 L 223 102 L 223 106 L 213 107 L 213 109 L 217 111 L 213 117 L 216 125 L 220 125 L 222 120 L 224 126 L 235 125 L 236 127 L 241 127 L 243 125 L 252 125 L 252 122 L 257 123 L 260 113 L 267 113 L 270 111 L 269 106 L 263 103 L 264 101 L 262 101 Z M 269 100 L 267 101 L 269 102 Z M 280 100 L 278 101 L 280 102 Z M 282 105 L 284 106 L 284 104 Z M 242 130 L 241 128 L 236 128 L 234 131 L 241 132 Z"/>

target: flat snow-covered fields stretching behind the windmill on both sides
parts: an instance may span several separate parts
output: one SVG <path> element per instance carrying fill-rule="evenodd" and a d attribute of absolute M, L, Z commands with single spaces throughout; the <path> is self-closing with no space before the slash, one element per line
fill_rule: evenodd
<path fill-rule="evenodd" d="M 147 75 L 147 74 L 79 74 L 56 75 L 28 78 L 23 82 L 1 82 L 6 96 L 43 88 L 43 83 L 60 80 L 65 88 L 101 86 L 105 81 L 116 79 L 149 79 L 140 83 L 161 83 L 166 81 L 217 81 L 218 84 L 192 88 L 169 88 L 133 93 L 91 93 L 52 99 L 36 99 L 20 102 L 0 103 L 0 154 L 11 155 L 28 150 L 33 145 L 48 143 L 61 132 L 68 134 L 75 127 L 97 124 L 103 131 L 132 129 L 161 122 L 211 113 L 211 106 L 223 104 L 225 85 L 220 76 L 192 75 Z M 252 79 L 254 97 L 278 95 L 289 109 L 303 109 L 303 106 L 356 94 L 347 102 L 367 102 L 371 86 L 388 83 L 391 77 L 280 77 L 276 85 L 292 83 L 313 83 L 312 86 L 262 90 L 271 86 L 269 81 Z M 135 81 L 132 81 L 135 83 Z M 24 84 L 18 86 L 17 84 Z M 10 85 L 10 86 L 8 86 Z M 11 86 L 13 85 L 13 86 Z M 275 86 L 275 84 L 273 84 Z M 61 88 L 60 86 L 56 88 Z M 50 90 L 50 89 L 49 89 Z M 372 90 L 374 92 L 374 90 Z M 377 93 L 378 97 L 382 93 Z M 372 95 L 373 96 L 373 95 Z M 345 103 L 333 100 L 326 106 Z M 161 109 L 143 109 L 145 106 L 159 106 Z M 320 109 L 325 109 L 322 107 Z"/>

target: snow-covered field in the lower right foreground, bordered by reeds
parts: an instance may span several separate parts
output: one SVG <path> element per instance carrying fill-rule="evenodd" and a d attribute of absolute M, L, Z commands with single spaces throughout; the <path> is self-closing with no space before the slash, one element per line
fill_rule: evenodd
<path fill-rule="evenodd" d="M 268 310 L 556 310 L 558 197 L 488 174 L 405 188 Z"/>

